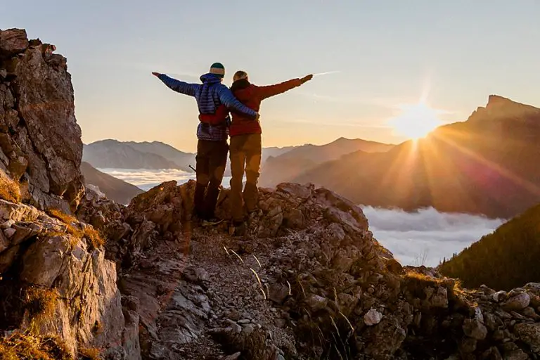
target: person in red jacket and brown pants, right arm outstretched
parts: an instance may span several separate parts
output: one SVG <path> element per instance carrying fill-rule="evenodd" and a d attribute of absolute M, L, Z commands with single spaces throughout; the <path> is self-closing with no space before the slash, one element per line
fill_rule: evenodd
<path fill-rule="evenodd" d="M 282 94 L 304 84 L 313 78 L 307 75 L 302 79 L 291 79 L 281 84 L 269 86 L 257 86 L 251 84 L 248 73 L 237 71 L 233 77 L 231 91 L 248 108 L 259 112 L 261 101 L 270 96 Z M 258 190 L 257 181 L 259 179 L 259 168 L 261 166 L 261 124 L 259 120 L 239 113 L 231 109 L 232 122 L 229 128 L 231 144 L 229 146 L 231 158 L 231 205 L 233 212 L 233 231 L 236 235 L 243 235 L 245 231 L 244 211 L 252 212 L 257 207 Z M 245 188 L 242 196 L 242 180 L 245 169 Z"/>

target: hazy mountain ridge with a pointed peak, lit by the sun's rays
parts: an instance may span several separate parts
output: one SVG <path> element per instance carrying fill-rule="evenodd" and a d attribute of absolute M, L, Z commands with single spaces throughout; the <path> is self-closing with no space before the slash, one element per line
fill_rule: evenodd
<path fill-rule="evenodd" d="M 540 203 L 540 112 L 489 99 L 468 120 L 425 139 L 387 153 L 345 155 L 290 181 L 313 182 L 362 205 L 513 217 Z"/>

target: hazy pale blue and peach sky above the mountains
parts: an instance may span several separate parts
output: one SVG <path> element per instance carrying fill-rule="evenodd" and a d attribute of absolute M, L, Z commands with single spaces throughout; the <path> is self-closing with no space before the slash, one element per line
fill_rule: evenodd
<path fill-rule="evenodd" d="M 387 122 L 427 102 L 465 120 L 489 94 L 540 105 L 540 1 L 11 1 L 23 27 L 68 58 L 83 141 L 195 150 L 193 98 L 151 71 L 198 82 L 211 63 L 255 84 L 337 71 L 264 101 L 264 146 L 340 136 L 399 142 Z"/>

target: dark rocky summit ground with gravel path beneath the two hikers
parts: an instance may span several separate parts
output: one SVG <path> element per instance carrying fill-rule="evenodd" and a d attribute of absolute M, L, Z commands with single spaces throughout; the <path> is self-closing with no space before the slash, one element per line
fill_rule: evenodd
<path fill-rule="evenodd" d="M 191 219 L 193 190 L 171 181 L 113 212 L 103 198 L 81 207 L 115 219 L 101 229 L 120 239 L 108 257 L 138 309 L 145 359 L 540 355 L 540 285 L 470 291 L 404 269 L 359 207 L 313 186 L 260 189 L 246 235 L 231 238 L 226 224 Z M 217 214 L 230 218 L 228 190 Z"/>

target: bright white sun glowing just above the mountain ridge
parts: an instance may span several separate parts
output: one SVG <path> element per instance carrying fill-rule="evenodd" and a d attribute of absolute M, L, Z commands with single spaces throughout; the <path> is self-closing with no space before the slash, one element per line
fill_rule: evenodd
<path fill-rule="evenodd" d="M 430 108 L 423 102 L 401 105 L 401 114 L 388 121 L 388 124 L 401 136 L 417 140 L 427 136 L 433 129 L 442 125 L 439 115 L 444 110 Z"/>

